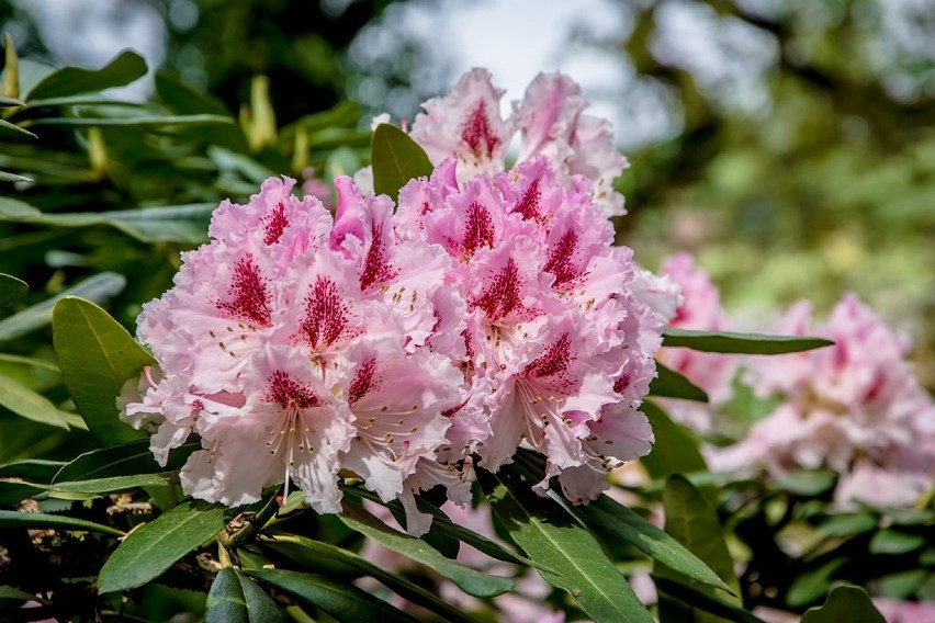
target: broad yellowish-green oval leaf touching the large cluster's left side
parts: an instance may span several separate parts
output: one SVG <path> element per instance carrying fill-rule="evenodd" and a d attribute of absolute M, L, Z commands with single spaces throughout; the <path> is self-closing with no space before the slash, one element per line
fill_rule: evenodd
<path fill-rule="evenodd" d="M 151 364 L 153 358 L 89 301 L 63 298 L 52 324 L 61 376 L 88 429 L 105 445 L 144 437 L 120 421 L 115 400 L 123 384 Z"/>

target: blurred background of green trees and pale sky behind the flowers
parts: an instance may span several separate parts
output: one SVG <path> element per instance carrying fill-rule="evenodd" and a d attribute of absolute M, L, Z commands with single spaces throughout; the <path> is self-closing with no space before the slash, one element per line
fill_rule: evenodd
<path fill-rule="evenodd" d="M 243 114 L 266 77 L 279 126 L 346 100 L 363 129 L 412 120 L 473 66 L 506 114 L 565 71 L 632 163 L 617 225 L 644 265 L 696 253 L 739 329 L 856 292 L 935 387 L 932 0 L 2 0 L 0 22 L 21 58 L 139 52 L 150 73 L 125 99 L 151 98 L 161 68 Z"/>

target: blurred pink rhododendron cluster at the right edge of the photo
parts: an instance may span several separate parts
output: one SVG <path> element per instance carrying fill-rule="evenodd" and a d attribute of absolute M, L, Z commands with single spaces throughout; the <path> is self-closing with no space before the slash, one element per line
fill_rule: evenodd
<path fill-rule="evenodd" d="M 777 328 L 818 335 L 829 348 L 751 360 L 752 383 L 785 401 L 747 438 L 710 453 L 713 468 L 792 468 L 842 474 L 835 501 L 911 505 L 935 473 L 935 403 L 905 360 L 908 344 L 856 296 L 846 295 L 824 327 L 809 331 L 810 307 L 795 306 Z"/>

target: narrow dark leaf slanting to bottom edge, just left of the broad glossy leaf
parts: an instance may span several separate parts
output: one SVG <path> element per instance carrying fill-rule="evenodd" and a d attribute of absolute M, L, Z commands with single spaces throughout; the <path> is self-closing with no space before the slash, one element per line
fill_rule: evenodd
<path fill-rule="evenodd" d="M 446 621 L 459 621 L 461 623 L 472 621 L 470 616 L 465 616 L 460 610 L 440 600 L 420 586 L 374 565 L 353 552 L 330 543 L 306 539 L 305 536 L 277 533 L 273 539 L 264 539 L 262 545 L 302 563 L 304 568 L 308 570 L 318 571 L 320 569 L 323 575 L 329 577 L 335 577 L 334 570 L 341 568 L 343 568 L 342 574 L 352 570 L 357 575 L 370 576 L 399 597 L 427 608 Z"/>

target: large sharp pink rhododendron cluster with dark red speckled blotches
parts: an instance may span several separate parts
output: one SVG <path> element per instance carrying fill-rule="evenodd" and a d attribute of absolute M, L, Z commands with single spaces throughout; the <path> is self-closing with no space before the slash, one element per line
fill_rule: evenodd
<path fill-rule="evenodd" d="M 413 494 L 442 485 L 464 503 L 475 455 L 496 471 L 534 449 L 537 487 L 559 476 L 579 502 L 649 451 L 637 407 L 674 304 L 612 246 L 601 184 L 622 165 L 602 155 L 607 128 L 561 76 L 537 79 L 519 121 L 499 122 L 485 80 L 472 71 L 426 104 L 413 136 L 443 141 L 441 124 L 460 143 L 397 206 L 342 177 L 333 216 L 270 179 L 215 211 L 211 241 L 144 307 L 138 336 L 158 366 L 120 404 L 154 431 L 162 464 L 200 435 L 187 494 L 235 506 L 294 482 L 335 512 L 339 479 L 356 478 L 401 499 L 421 533 Z M 523 161 L 503 171 L 517 124 Z M 582 177 L 598 157 L 596 178 Z"/>

